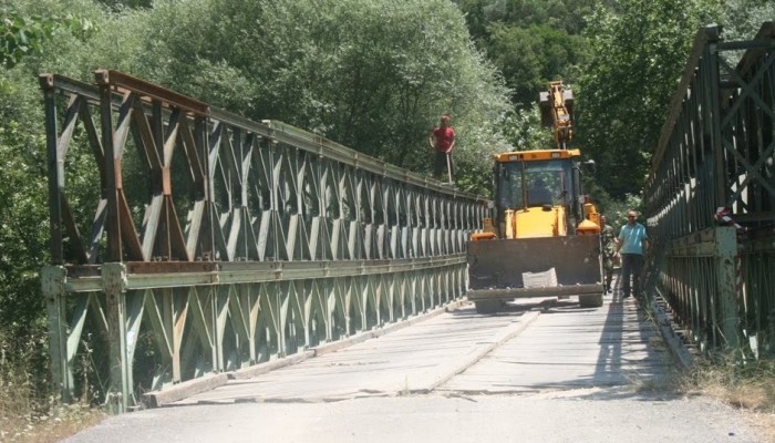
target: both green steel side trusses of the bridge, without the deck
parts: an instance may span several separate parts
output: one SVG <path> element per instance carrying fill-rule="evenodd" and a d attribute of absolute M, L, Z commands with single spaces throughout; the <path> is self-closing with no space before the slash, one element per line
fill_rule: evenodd
<path fill-rule="evenodd" d="M 743 358 L 775 347 L 774 48 L 698 33 L 644 187 L 648 293 Z M 64 401 L 126 411 L 465 296 L 484 198 L 120 72 L 40 83 Z"/>

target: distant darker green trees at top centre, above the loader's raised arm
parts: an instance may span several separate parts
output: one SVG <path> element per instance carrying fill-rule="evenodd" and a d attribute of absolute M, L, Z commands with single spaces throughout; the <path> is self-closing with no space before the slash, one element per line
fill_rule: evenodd
<path fill-rule="evenodd" d="M 562 80 L 569 87 L 578 82 L 589 58 L 586 37 L 581 34 L 587 23 L 585 17 L 599 1 L 458 0 L 456 3 L 466 17 L 472 38 L 513 91 L 514 110 L 502 125 L 509 141 L 520 150 L 552 146 L 550 136 L 526 143 L 525 137 L 515 135 L 546 134 L 539 120 L 521 116 L 536 113 L 538 94 L 547 89 L 549 81 Z"/>

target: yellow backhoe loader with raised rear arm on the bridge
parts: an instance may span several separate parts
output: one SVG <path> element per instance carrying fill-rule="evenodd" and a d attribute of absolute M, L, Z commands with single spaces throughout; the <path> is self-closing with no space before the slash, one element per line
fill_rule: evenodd
<path fill-rule="evenodd" d="M 568 148 L 572 93 L 551 82 L 540 99 L 557 147 L 495 156 L 492 218 L 467 244 L 467 297 L 478 312 L 523 297 L 572 296 L 582 307 L 602 306 L 599 215 L 580 181 L 593 163 Z"/>

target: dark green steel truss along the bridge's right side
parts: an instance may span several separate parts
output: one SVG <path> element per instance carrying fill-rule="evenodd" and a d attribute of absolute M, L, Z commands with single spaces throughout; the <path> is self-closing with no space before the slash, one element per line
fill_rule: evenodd
<path fill-rule="evenodd" d="M 775 352 L 774 146 L 775 25 L 700 30 L 644 196 L 649 284 L 703 349 Z"/>

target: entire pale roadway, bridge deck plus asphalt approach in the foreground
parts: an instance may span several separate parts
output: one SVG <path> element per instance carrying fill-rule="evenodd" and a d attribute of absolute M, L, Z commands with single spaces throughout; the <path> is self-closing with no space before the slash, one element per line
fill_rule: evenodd
<path fill-rule="evenodd" d="M 493 316 L 463 305 L 65 441 L 764 441 L 738 411 L 672 393 L 673 373 L 631 299 L 528 300 Z"/>

